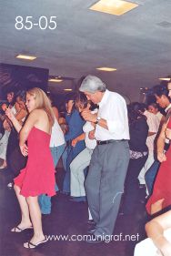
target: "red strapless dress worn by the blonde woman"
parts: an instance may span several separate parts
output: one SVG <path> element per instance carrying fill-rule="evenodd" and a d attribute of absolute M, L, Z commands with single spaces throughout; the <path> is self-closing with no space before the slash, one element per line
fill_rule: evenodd
<path fill-rule="evenodd" d="M 27 139 L 28 159 L 25 169 L 14 179 L 24 197 L 55 195 L 55 167 L 49 148 L 50 135 L 32 128 Z"/>

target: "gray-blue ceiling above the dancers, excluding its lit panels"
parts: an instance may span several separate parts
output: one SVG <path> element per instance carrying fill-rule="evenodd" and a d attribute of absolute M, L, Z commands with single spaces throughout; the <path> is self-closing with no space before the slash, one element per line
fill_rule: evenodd
<path fill-rule="evenodd" d="M 101 77 L 111 90 L 138 100 L 140 87 L 152 87 L 171 74 L 171 1 L 141 0 L 125 15 L 89 10 L 95 0 L 1 0 L 0 62 L 49 68 L 52 76 L 73 77 L 50 84 L 55 92 L 75 87 L 86 74 Z M 57 17 L 55 30 L 16 30 L 17 15 Z M 16 59 L 35 55 L 33 62 Z M 116 67 L 115 72 L 96 67 Z"/>

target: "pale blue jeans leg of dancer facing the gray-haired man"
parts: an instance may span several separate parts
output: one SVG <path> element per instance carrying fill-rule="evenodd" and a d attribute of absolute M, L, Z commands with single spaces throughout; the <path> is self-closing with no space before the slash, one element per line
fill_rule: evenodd
<path fill-rule="evenodd" d="M 89 165 L 90 159 L 90 150 L 85 148 L 75 157 L 75 159 L 70 164 L 72 197 L 85 197 L 84 169 Z"/>

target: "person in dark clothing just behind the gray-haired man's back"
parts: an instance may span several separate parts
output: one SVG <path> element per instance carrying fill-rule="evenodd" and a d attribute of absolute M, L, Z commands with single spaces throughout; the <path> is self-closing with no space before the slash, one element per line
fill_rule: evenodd
<path fill-rule="evenodd" d="M 137 177 L 145 165 L 148 156 L 146 146 L 148 125 L 146 123 L 146 117 L 139 109 L 136 109 L 137 104 L 139 103 L 133 103 L 128 107 L 130 160 L 126 174 L 125 194 L 121 210 L 124 214 L 132 214 L 136 210 L 139 190 Z"/>

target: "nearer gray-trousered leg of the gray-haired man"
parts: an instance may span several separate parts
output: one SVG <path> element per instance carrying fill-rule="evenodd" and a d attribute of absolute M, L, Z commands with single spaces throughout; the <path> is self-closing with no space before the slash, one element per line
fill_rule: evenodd
<path fill-rule="evenodd" d="M 130 156 L 129 147 L 127 141 L 115 141 L 99 147 L 100 165 L 103 169 L 100 180 L 100 214 L 95 235 L 111 235 L 115 227 L 121 196 L 124 192 Z"/>

